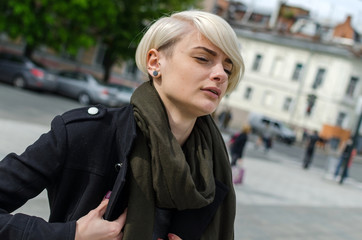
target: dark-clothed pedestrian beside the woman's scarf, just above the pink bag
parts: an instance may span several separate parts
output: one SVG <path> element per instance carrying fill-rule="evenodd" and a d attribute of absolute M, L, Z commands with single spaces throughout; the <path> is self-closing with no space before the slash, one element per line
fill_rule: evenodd
<path fill-rule="evenodd" d="M 230 154 L 231 154 L 231 166 L 235 166 L 237 161 L 241 161 L 243 158 L 244 148 L 248 141 L 248 135 L 250 133 L 250 126 L 246 125 L 240 132 L 233 135 L 230 140 Z"/>

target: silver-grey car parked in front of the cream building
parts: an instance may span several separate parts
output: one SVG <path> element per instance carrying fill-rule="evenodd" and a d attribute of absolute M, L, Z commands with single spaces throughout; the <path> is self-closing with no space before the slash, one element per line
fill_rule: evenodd
<path fill-rule="evenodd" d="M 281 142 L 287 144 L 293 144 L 295 142 L 295 132 L 284 123 L 261 114 L 250 113 L 249 124 L 254 133 L 261 134 L 266 123 L 270 124 L 270 126 L 273 128 L 273 132 L 276 138 Z"/>

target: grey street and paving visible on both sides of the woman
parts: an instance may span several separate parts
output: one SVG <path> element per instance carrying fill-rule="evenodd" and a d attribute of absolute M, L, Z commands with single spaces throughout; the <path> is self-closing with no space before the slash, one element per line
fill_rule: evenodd
<path fill-rule="evenodd" d="M 0 84 L 0 159 L 9 152 L 20 154 L 49 130 L 55 115 L 80 106 L 56 95 Z M 224 137 L 227 141 L 230 136 Z M 235 185 L 236 240 L 361 239 L 360 164 L 355 163 L 351 178 L 339 185 L 330 178 L 328 155 L 318 151 L 311 169 L 304 170 L 303 154 L 302 147 L 279 143 L 265 154 L 248 142 L 244 182 Z M 47 219 L 46 192 L 16 212 Z"/>

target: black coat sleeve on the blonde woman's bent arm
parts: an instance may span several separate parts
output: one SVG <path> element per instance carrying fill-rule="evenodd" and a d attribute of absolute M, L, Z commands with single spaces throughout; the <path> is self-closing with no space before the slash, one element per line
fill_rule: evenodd
<path fill-rule="evenodd" d="M 24 153 L 10 153 L 0 161 L 0 239 L 74 239 L 74 221 L 48 223 L 39 217 L 11 214 L 59 176 L 66 139 L 64 122 L 57 116 L 51 130 L 41 135 Z"/>

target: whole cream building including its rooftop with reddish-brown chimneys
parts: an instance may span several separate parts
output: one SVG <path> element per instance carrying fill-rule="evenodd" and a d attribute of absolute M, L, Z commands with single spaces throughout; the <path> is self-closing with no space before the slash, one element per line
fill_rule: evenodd
<path fill-rule="evenodd" d="M 351 17 L 326 26 L 281 1 L 271 13 L 227 2 L 218 13 L 234 27 L 246 64 L 242 83 L 223 101 L 233 108 L 231 126 L 258 112 L 289 124 L 300 138 L 305 129 L 348 138 L 362 95 L 362 44 Z"/>

